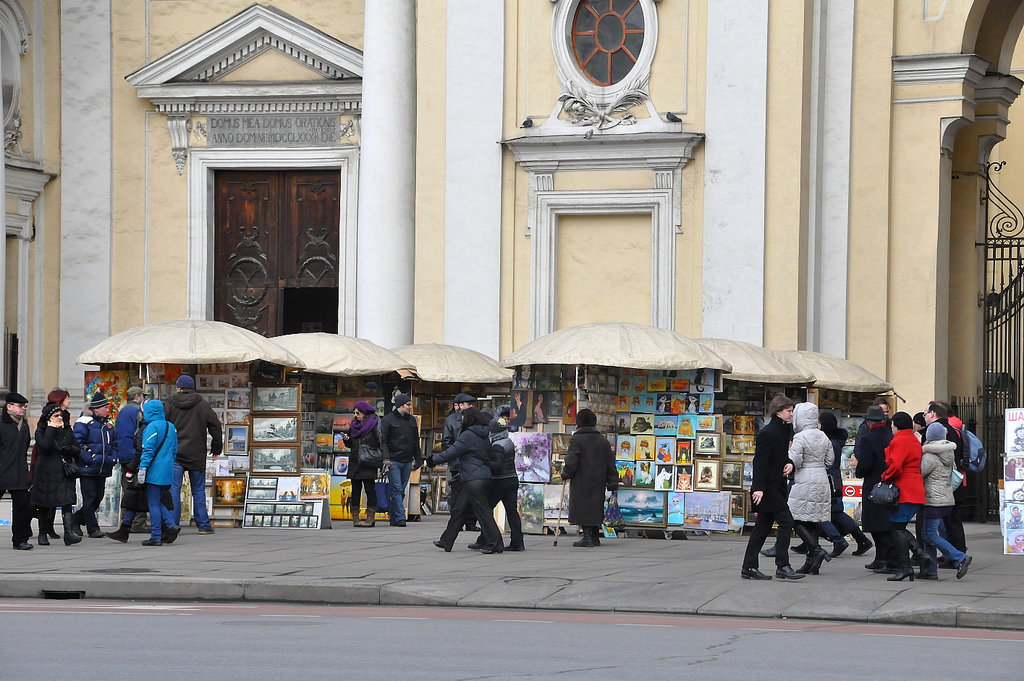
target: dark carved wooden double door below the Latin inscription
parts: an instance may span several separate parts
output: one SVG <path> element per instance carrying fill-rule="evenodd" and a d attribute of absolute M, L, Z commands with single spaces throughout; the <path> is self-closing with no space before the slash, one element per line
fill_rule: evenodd
<path fill-rule="evenodd" d="M 309 305 L 295 304 L 304 293 L 337 291 L 339 189 L 337 171 L 217 172 L 216 320 L 276 336 L 296 326 L 290 309 L 308 314 Z M 337 330 L 337 308 L 316 312 L 325 330 L 331 318 Z"/>

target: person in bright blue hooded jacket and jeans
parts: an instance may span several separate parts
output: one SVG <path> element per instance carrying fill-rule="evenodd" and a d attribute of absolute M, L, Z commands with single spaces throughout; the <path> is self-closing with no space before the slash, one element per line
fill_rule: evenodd
<path fill-rule="evenodd" d="M 177 538 L 181 528 L 171 515 L 171 482 L 174 479 L 174 461 L 178 453 L 178 433 L 174 424 L 164 416 L 164 402 L 151 399 L 142 405 L 145 430 L 142 431 L 142 458 L 138 463 L 138 483 L 145 486 L 145 501 L 150 507 L 150 539 L 142 546 L 162 546 L 163 528 Z M 174 539 L 167 542 L 170 544 Z"/>

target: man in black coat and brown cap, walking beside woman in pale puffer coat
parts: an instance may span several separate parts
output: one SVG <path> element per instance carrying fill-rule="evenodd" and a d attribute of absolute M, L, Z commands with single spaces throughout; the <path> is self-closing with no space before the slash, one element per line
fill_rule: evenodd
<path fill-rule="evenodd" d="M 785 395 L 775 395 L 768 406 L 771 421 L 755 439 L 754 479 L 751 482 L 751 504 L 758 517 L 746 542 L 743 567 L 739 570 L 744 580 L 770 580 L 758 569 L 758 552 L 764 546 L 773 523 L 778 522 L 775 541 L 775 577 L 780 580 L 799 580 L 804 576 L 790 564 L 790 533 L 793 531 L 793 514 L 786 501 L 786 477 L 793 472 L 790 461 L 790 441 L 793 439 L 793 408 L 795 402 Z"/>

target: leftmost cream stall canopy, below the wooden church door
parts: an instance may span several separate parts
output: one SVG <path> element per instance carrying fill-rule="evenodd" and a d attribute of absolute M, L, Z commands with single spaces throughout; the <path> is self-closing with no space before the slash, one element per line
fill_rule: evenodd
<path fill-rule="evenodd" d="M 229 364 L 262 359 L 302 369 L 302 360 L 259 334 L 223 322 L 174 320 L 133 327 L 78 355 L 80 365 Z"/>

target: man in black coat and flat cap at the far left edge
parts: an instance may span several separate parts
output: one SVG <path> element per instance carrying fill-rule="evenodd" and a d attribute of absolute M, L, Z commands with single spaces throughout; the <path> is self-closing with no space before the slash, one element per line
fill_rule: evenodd
<path fill-rule="evenodd" d="M 32 538 L 32 496 L 29 493 L 29 440 L 32 432 L 26 423 L 29 400 L 17 392 L 8 392 L 0 413 L 0 499 L 10 493 L 10 534 L 15 551 L 29 551 Z"/>

